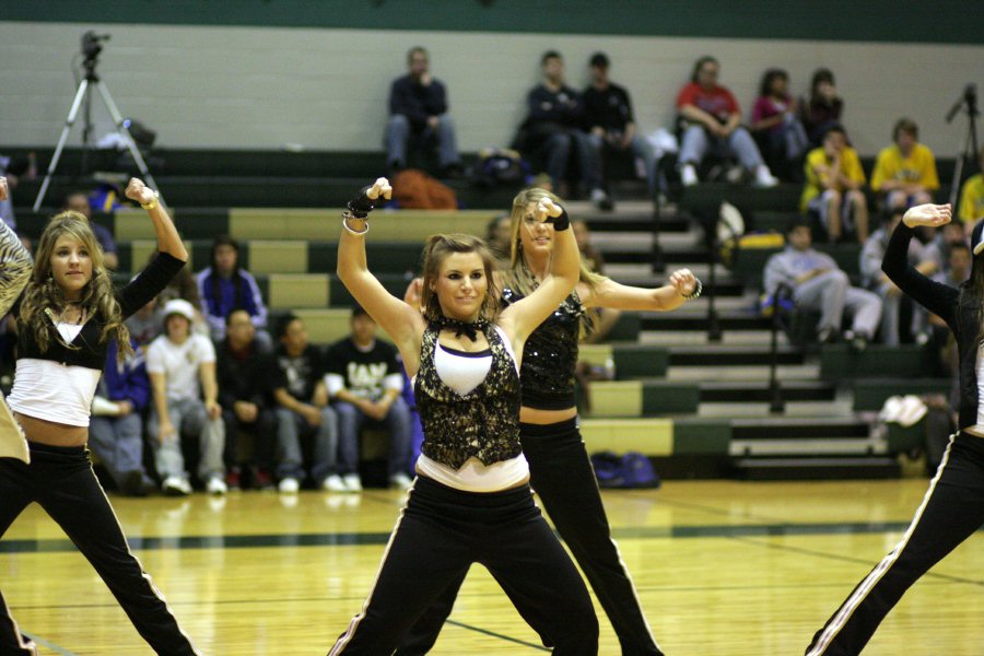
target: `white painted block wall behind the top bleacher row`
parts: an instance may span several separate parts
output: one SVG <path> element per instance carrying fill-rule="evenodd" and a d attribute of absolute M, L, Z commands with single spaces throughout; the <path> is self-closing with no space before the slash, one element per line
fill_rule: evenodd
<path fill-rule="evenodd" d="M 968 82 L 984 93 L 981 46 L 0 22 L 0 144 L 57 142 L 75 90 L 70 62 L 90 28 L 113 35 L 98 70 L 120 112 L 171 148 L 380 150 L 389 82 L 413 45 L 431 50 L 432 71 L 449 87 L 462 151 L 508 143 L 550 48 L 564 55 L 576 87 L 590 54 L 606 50 L 645 130 L 670 125 L 701 55 L 722 61 L 722 83 L 745 110 L 765 68 L 786 68 L 799 94 L 815 68 L 829 67 L 862 154 L 875 154 L 907 115 L 924 142 L 952 156 L 965 119 L 944 117 Z M 94 107 L 101 136 L 112 121 L 101 101 Z M 81 122 L 70 144 L 80 143 Z"/>

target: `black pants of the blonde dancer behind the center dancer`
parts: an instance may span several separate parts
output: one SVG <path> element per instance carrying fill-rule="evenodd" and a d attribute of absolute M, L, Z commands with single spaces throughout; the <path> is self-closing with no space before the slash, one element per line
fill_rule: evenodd
<path fill-rule="evenodd" d="M 661 655 L 618 544 L 611 539 L 611 527 L 576 418 L 546 425 L 522 423 L 519 436 L 529 462 L 530 485 L 591 584 L 619 637 L 622 654 Z M 464 581 L 462 575 L 453 582 L 427 609 L 397 656 L 419 656 L 434 646 Z M 535 625 L 531 618 L 526 620 Z M 555 644 L 549 634 L 540 633 L 540 637 L 547 645 Z"/>

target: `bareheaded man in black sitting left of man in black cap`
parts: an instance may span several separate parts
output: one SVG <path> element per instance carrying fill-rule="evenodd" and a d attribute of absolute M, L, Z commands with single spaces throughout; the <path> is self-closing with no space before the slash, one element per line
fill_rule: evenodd
<path fill-rule="evenodd" d="M 564 59 L 557 50 L 540 58 L 543 81 L 526 96 L 527 117 L 514 148 L 529 156 L 542 156 L 554 189 L 565 189 L 571 149 L 577 154 L 581 184 L 599 208 L 610 209 L 611 199 L 601 188 L 601 171 L 585 128 L 581 94 L 564 82 Z M 565 194 L 566 195 L 566 194 Z"/>

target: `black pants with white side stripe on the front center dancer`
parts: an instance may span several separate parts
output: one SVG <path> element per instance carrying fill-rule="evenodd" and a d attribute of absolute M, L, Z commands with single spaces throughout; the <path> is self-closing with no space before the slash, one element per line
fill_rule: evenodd
<path fill-rule="evenodd" d="M 598 619 L 529 485 L 464 492 L 417 477 L 362 610 L 330 656 L 393 654 L 471 563 L 484 565 L 557 655 L 595 656 Z"/>

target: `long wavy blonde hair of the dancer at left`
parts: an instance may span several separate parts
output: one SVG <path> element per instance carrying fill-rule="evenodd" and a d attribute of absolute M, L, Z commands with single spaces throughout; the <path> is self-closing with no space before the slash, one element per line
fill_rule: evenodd
<path fill-rule="evenodd" d="M 116 339 L 119 359 L 122 360 L 133 352 L 130 347 L 130 331 L 124 324 L 122 312 L 113 293 L 113 281 L 103 262 L 103 249 L 96 242 L 89 220 L 79 212 L 69 210 L 56 214 L 45 226 L 37 245 L 34 271 L 21 301 L 17 329 L 33 335 L 40 351 L 47 351 L 51 345 L 51 323 L 45 316 L 45 311 L 51 309 L 56 314 L 61 314 L 67 305 L 65 294 L 51 274 L 51 255 L 61 237 L 75 239 L 89 251 L 92 260 L 92 279 L 82 288 L 79 304 L 90 317 L 96 315 L 102 317 L 105 325 L 99 335 L 99 343 Z"/>

